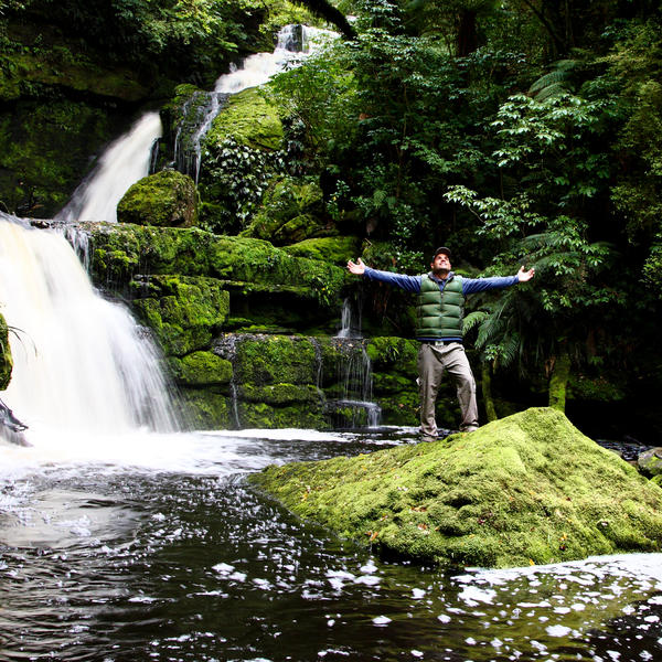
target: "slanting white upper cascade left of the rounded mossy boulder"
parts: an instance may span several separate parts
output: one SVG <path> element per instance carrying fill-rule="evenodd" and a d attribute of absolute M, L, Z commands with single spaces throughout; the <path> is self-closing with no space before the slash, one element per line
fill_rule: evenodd
<path fill-rule="evenodd" d="M 140 117 L 106 149 L 55 220 L 117 222 L 117 204 L 131 184 L 149 174 L 154 143 L 162 132 L 158 113 Z"/>

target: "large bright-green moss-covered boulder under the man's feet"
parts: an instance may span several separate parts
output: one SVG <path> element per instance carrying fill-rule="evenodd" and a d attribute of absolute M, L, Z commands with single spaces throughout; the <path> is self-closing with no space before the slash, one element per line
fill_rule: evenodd
<path fill-rule="evenodd" d="M 440 565 L 662 549 L 662 490 L 551 408 L 431 444 L 273 466 L 250 480 L 342 536 Z"/>

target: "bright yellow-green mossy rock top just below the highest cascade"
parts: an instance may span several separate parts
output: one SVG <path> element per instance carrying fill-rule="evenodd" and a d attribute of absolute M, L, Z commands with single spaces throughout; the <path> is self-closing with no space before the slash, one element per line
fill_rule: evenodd
<path fill-rule="evenodd" d="M 282 143 L 278 108 L 257 87 L 232 95 L 205 136 L 207 149 L 232 138 L 254 149 L 277 150 Z"/>

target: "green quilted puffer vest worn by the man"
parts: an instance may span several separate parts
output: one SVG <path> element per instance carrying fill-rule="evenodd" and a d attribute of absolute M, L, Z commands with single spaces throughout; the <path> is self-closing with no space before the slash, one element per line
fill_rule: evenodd
<path fill-rule="evenodd" d="M 462 277 L 450 278 L 444 291 L 428 275 L 420 281 L 417 301 L 416 338 L 461 338 L 465 314 Z"/>

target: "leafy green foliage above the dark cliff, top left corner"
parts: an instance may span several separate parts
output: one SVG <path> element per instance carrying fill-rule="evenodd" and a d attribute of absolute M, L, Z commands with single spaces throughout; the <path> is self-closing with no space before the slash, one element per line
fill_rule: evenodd
<path fill-rule="evenodd" d="M 158 68 L 175 78 L 202 81 L 228 55 L 254 41 L 264 9 L 252 0 L 6 0 L 15 30 L 41 26 L 32 47 L 81 40 L 105 62 Z M 85 52 L 84 50 L 84 52 Z M 74 57 L 79 55 L 74 52 Z M 186 75 L 188 73 L 188 75 Z"/>

